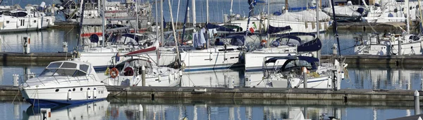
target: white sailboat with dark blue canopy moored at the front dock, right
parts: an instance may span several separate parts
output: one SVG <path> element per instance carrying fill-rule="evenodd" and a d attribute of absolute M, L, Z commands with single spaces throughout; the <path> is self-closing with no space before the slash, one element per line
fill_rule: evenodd
<path fill-rule="evenodd" d="M 307 88 L 334 89 L 343 79 L 343 69 L 346 67 L 337 60 L 332 65 L 318 65 L 319 59 L 312 56 L 269 56 L 264 59 L 262 82 L 265 85 L 262 87 L 265 88 L 303 88 L 305 73 Z M 279 60 L 284 61 L 281 67 L 268 67 L 274 66 Z"/>

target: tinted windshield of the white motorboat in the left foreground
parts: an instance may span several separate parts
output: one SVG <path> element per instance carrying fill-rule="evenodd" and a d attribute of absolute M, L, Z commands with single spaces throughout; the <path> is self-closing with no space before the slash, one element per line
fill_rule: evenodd
<path fill-rule="evenodd" d="M 54 62 L 49 64 L 39 76 L 86 76 L 90 68 L 87 64 L 72 62 Z"/>

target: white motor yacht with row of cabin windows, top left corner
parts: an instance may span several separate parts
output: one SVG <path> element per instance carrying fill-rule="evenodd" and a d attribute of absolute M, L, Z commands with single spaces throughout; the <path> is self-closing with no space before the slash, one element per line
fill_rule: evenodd
<path fill-rule="evenodd" d="M 54 25 L 56 18 L 35 11 L 34 6 L 0 12 L 0 32 L 41 30 Z"/>

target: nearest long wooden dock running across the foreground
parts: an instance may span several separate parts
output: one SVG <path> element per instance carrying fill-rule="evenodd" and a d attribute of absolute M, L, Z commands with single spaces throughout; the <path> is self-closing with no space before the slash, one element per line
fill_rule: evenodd
<path fill-rule="evenodd" d="M 262 100 L 376 100 L 413 101 L 414 90 L 322 90 L 299 88 L 198 88 L 198 87 L 128 87 L 106 86 L 109 97 L 262 99 Z M 20 95 L 18 88 L 2 85 L 0 96 Z M 423 96 L 420 93 L 420 96 Z M 21 97 L 20 97 L 21 98 Z M 420 97 L 422 100 L 422 97 Z"/>

